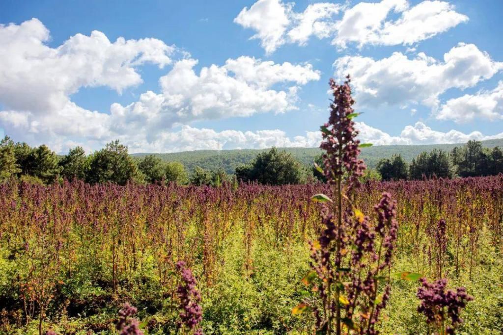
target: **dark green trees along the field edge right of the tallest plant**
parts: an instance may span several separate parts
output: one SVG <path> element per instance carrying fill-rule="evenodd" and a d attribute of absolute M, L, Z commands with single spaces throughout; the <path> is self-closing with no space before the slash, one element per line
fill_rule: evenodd
<path fill-rule="evenodd" d="M 491 176 L 503 173 L 503 151 L 468 141 L 450 152 L 434 149 L 422 152 L 407 163 L 400 155 L 381 159 L 377 170 L 383 180 Z"/>

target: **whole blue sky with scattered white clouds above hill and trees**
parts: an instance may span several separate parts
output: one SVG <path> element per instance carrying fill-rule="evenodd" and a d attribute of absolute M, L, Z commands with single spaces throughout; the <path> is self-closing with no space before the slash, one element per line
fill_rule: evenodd
<path fill-rule="evenodd" d="M 0 135 L 58 153 L 317 147 L 350 74 L 362 142 L 503 138 L 500 0 L 0 0 Z"/>

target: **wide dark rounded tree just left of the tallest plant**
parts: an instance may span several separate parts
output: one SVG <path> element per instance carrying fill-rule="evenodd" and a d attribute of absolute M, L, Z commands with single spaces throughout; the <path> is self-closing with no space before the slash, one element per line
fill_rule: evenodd
<path fill-rule="evenodd" d="M 272 148 L 260 153 L 249 165 L 236 168 L 236 176 L 243 181 L 261 184 L 299 184 L 306 180 L 302 165 L 286 151 Z"/>

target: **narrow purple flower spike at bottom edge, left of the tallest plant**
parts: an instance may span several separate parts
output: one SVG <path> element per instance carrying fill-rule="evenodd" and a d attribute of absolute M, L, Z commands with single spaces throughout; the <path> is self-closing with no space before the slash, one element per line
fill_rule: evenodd
<path fill-rule="evenodd" d="M 203 319 L 203 309 L 199 305 L 201 293 L 196 289 L 196 278 L 194 278 L 192 271 L 186 267 L 184 261 L 179 261 L 176 267 L 183 282 L 177 289 L 180 298 L 180 309 L 182 310 L 179 323 L 181 333 L 189 334 L 193 332 L 194 335 L 202 335 L 201 328 L 197 328 L 197 325 Z"/>

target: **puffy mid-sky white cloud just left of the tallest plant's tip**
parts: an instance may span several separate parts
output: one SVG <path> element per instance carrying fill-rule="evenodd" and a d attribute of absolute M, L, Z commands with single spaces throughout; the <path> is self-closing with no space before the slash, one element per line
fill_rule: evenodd
<path fill-rule="evenodd" d="M 149 91 L 127 106 L 114 104 L 112 116 L 128 125 L 139 120 L 165 128 L 196 120 L 284 113 L 296 108 L 298 85 L 320 77 L 310 64 L 275 64 L 245 56 L 228 59 L 223 66 L 203 67 L 199 74 L 196 64 L 194 59 L 176 62 L 159 79 L 159 94 Z M 273 89 L 285 83 L 293 86 Z"/>

